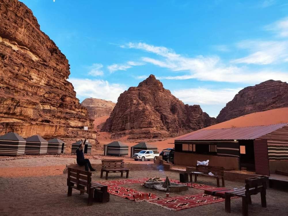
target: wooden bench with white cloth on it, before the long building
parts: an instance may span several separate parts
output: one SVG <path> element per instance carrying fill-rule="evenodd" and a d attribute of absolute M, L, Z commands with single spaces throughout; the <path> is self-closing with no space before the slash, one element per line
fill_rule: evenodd
<path fill-rule="evenodd" d="M 212 178 L 216 178 L 217 180 L 217 187 L 220 187 L 220 178 L 222 180 L 222 187 L 225 187 L 225 181 L 224 181 L 224 170 L 226 170 L 223 166 L 205 166 L 205 165 L 196 165 L 196 171 L 202 172 L 204 174 L 194 174 L 194 181 L 197 182 L 197 176 L 198 175 L 204 175 Z M 231 169 L 229 169 L 231 170 Z M 208 175 L 208 173 L 213 173 L 214 176 Z M 192 173 L 189 173 L 190 175 L 190 182 L 192 182 Z"/>

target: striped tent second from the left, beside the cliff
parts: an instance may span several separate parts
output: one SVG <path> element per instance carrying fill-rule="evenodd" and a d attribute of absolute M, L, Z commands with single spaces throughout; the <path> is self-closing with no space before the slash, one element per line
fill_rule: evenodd
<path fill-rule="evenodd" d="M 25 154 L 38 155 L 47 154 L 48 141 L 39 135 L 26 139 Z"/>

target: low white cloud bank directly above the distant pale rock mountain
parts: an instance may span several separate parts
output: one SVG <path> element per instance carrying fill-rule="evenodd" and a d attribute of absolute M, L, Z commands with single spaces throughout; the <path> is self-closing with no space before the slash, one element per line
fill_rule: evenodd
<path fill-rule="evenodd" d="M 116 103 L 119 95 L 127 89 L 125 85 L 110 84 L 102 79 L 69 78 L 67 80 L 73 84 L 76 96 L 81 100 L 92 97 Z"/>

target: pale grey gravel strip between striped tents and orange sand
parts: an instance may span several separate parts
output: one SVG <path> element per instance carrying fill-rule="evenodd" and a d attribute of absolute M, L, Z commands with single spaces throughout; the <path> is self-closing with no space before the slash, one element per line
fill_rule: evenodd
<path fill-rule="evenodd" d="M 92 164 L 100 164 L 101 160 L 89 159 Z M 76 158 L 71 157 L 37 157 L 16 160 L 1 160 L 0 167 L 24 167 L 24 166 L 58 166 L 76 163 Z"/>

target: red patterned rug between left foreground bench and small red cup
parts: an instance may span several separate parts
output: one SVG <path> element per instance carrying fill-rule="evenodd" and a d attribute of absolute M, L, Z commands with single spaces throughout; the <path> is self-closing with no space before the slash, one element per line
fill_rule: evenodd
<path fill-rule="evenodd" d="M 135 189 L 120 187 L 118 185 L 108 185 L 108 193 L 128 200 L 134 200 L 135 202 L 158 199 L 158 196 L 155 194 L 139 192 Z"/>

